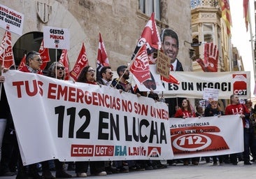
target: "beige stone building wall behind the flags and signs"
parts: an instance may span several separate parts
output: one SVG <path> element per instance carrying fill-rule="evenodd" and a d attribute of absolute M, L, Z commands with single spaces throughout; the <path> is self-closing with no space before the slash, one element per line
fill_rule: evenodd
<path fill-rule="evenodd" d="M 138 38 L 154 11 L 159 33 L 164 28 L 178 33 L 178 59 L 185 71 L 192 71 L 189 52 L 183 45 L 192 34 L 190 0 L 2 0 L 1 4 L 24 14 L 23 35 L 12 34 L 16 65 L 24 53 L 38 51 L 43 27 L 48 26 L 69 29 L 71 69 L 83 43 L 89 64 L 96 66 L 101 33 L 110 65 L 115 71 L 118 66 L 131 61 Z M 0 29 L 0 34 L 3 36 L 4 29 Z M 55 54 L 55 50 L 50 50 L 51 62 L 55 62 Z M 57 60 L 60 54 L 61 50 L 57 50 Z"/>

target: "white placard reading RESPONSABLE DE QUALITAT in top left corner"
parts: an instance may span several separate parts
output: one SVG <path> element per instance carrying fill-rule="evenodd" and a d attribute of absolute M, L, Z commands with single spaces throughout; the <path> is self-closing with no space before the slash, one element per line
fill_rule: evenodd
<path fill-rule="evenodd" d="M 0 3 L 0 27 L 22 35 L 24 15 Z"/>

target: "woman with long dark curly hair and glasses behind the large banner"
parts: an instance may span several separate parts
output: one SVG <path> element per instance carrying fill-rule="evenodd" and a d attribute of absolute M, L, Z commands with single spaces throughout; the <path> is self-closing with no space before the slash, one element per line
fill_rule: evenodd
<path fill-rule="evenodd" d="M 77 82 L 99 85 L 96 80 L 96 73 L 92 66 L 85 66 L 78 76 Z M 76 162 L 76 176 L 87 177 L 89 162 Z M 95 176 L 106 176 L 104 161 L 90 162 L 90 173 Z"/>

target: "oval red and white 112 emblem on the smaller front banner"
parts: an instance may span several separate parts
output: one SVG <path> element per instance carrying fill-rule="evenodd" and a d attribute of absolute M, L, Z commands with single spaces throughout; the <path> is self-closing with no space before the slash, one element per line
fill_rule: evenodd
<path fill-rule="evenodd" d="M 196 151 L 211 145 L 211 138 L 203 134 L 185 134 L 173 140 L 173 147 L 183 151 Z"/>

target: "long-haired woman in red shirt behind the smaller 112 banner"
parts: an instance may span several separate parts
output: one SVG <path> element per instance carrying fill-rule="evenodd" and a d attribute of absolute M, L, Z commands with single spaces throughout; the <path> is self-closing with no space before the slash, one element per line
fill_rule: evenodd
<path fill-rule="evenodd" d="M 183 99 L 182 106 L 179 110 L 176 111 L 174 117 L 179 117 L 186 119 L 187 117 L 196 117 L 196 114 L 192 111 L 192 108 L 190 106 L 190 101 L 188 99 Z M 183 159 L 183 164 L 188 165 L 190 159 Z M 198 165 L 199 164 L 199 158 L 194 157 L 192 158 L 192 164 Z"/>

